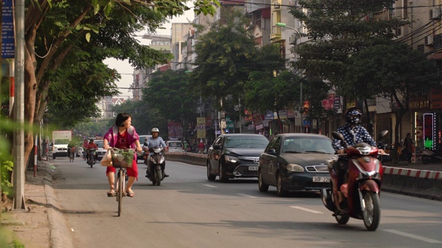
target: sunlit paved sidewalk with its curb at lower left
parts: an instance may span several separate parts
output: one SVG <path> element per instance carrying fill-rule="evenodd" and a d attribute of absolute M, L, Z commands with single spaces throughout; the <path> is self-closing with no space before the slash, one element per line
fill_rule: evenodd
<path fill-rule="evenodd" d="M 19 244 L 31 248 L 73 247 L 68 234 L 66 219 L 57 207 L 53 195 L 53 165 L 43 161 L 38 163 L 37 176 L 33 170 L 26 171 L 25 198 L 26 210 L 1 209 L 0 247 L 14 247 L 10 243 L 18 240 Z"/>

